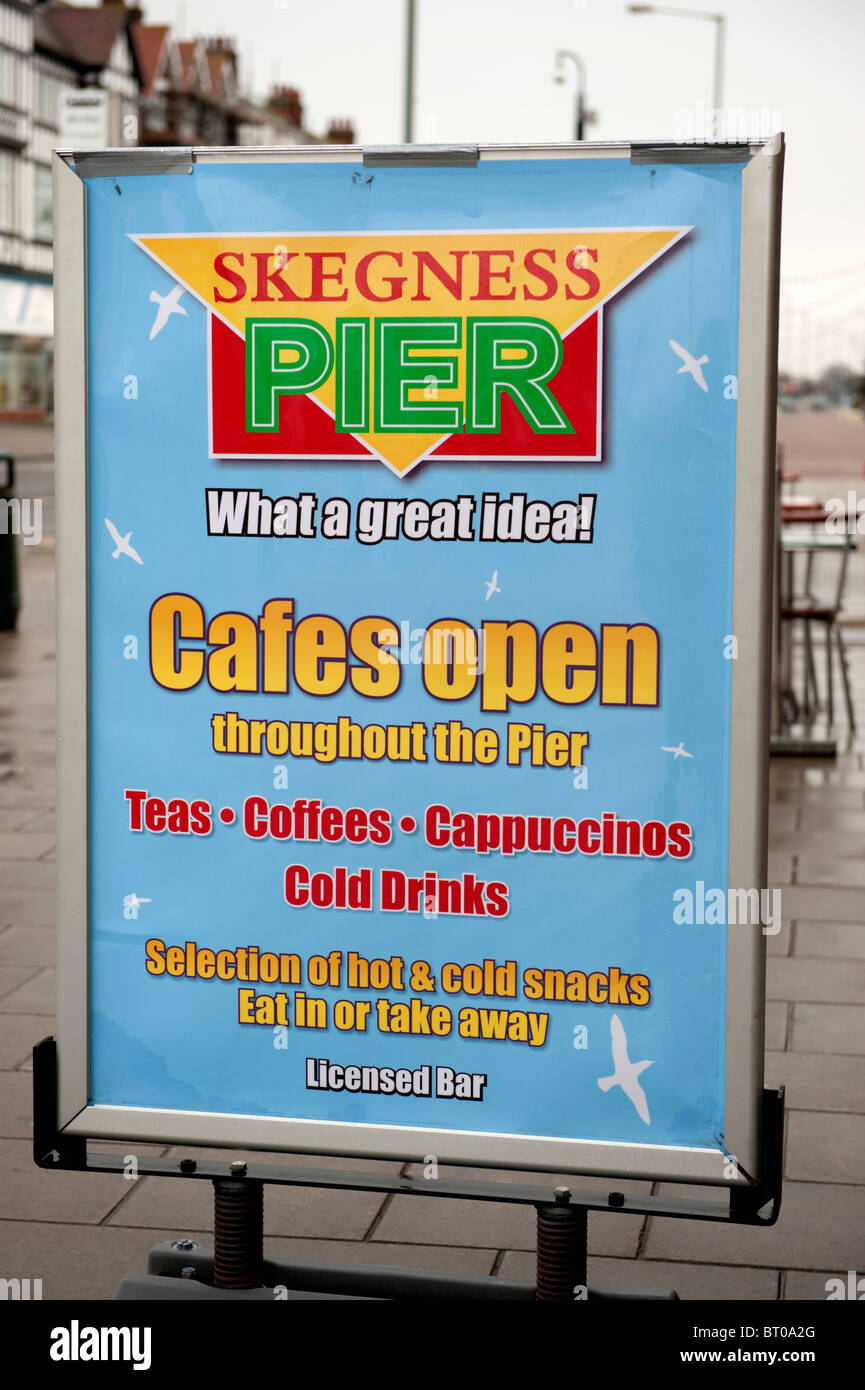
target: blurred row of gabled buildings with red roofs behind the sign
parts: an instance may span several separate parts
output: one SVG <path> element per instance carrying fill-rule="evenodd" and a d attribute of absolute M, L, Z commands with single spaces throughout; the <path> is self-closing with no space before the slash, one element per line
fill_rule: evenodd
<path fill-rule="evenodd" d="M 312 135 L 295 88 L 248 101 L 231 39 L 177 42 L 124 0 L 0 0 L 0 420 L 53 410 L 54 149 L 323 142 L 350 122 Z"/>

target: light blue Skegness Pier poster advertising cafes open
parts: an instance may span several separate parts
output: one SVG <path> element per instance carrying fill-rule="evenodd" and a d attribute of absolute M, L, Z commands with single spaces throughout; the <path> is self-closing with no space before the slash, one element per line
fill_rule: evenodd
<path fill-rule="evenodd" d="M 85 183 L 92 1102 L 723 1150 L 741 165 Z"/>

